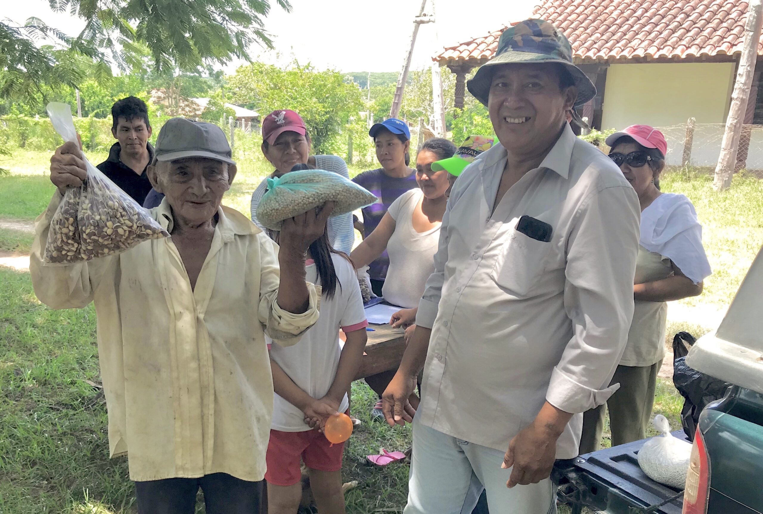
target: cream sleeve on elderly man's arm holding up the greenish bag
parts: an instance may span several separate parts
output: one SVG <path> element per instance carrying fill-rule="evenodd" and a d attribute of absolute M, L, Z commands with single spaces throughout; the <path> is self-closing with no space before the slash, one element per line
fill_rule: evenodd
<path fill-rule="evenodd" d="M 290 313 L 278 305 L 278 246 L 264 234 L 260 241 L 259 323 L 265 333 L 278 345 L 296 344 L 305 330 L 313 326 L 319 316 L 320 287 L 307 282 L 309 304 L 301 314 Z"/>

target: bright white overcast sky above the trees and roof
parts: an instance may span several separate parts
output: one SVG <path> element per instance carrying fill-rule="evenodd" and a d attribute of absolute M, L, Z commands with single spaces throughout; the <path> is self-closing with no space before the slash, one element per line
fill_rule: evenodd
<path fill-rule="evenodd" d="M 530 18 L 537 1 L 485 4 L 435 0 L 437 21 L 420 27 L 414 69 L 429 66 L 431 56 L 443 47 L 488 34 L 510 21 Z M 18 24 L 36 16 L 72 36 L 84 25 L 79 18 L 50 11 L 47 0 L 2 3 L 5 5 L 0 16 Z M 291 0 L 291 5 L 290 14 L 274 7 L 266 21 L 280 59 L 289 60 L 293 53 L 301 63 L 310 61 L 319 68 L 391 72 L 402 67 L 413 19 L 421 4 L 419 0 Z M 266 62 L 278 62 L 275 53 L 263 53 L 259 48 L 253 48 L 252 55 L 259 55 Z M 233 72 L 237 64 L 240 63 L 225 66 L 226 71 Z"/>

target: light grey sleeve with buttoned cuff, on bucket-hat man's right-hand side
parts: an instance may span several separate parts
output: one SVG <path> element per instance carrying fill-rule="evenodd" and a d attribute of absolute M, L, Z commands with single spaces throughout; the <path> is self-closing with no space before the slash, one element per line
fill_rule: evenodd
<path fill-rule="evenodd" d="M 568 413 L 602 405 L 633 318 L 639 251 L 639 200 L 633 188 L 594 191 L 581 203 L 568 237 L 565 311 L 574 335 L 555 366 L 546 400 Z"/>

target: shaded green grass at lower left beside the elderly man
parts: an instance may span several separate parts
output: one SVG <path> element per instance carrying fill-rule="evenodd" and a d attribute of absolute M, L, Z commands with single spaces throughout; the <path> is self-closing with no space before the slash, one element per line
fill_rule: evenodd
<path fill-rule="evenodd" d="M 77 512 L 133 502 L 124 459 L 108 461 L 95 310 L 54 311 L 29 275 L 0 268 L 0 512 Z M 127 511 L 125 511 L 127 512 Z"/>

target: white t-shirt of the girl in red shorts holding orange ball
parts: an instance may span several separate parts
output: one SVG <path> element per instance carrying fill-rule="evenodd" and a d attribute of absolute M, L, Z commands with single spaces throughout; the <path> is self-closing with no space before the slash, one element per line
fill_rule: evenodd
<path fill-rule="evenodd" d="M 311 397 L 319 399 L 328 393 L 339 359 L 342 342 L 339 330 L 345 333 L 365 330 L 363 300 L 360 294 L 358 276 L 353 265 L 342 255 L 331 254 L 338 284 L 333 298 L 320 299 L 320 318 L 300 341 L 293 346 L 283 348 L 266 336 L 270 348 L 270 357 L 278 363 L 297 386 Z M 319 284 L 315 264 L 305 265 L 306 279 Z M 343 413 L 349 407 L 345 394 L 339 407 Z M 273 399 L 272 429 L 282 432 L 305 432 L 311 428 L 304 423 L 304 413 L 288 403 L 278 394 Z"/>

